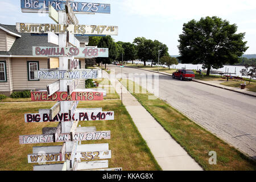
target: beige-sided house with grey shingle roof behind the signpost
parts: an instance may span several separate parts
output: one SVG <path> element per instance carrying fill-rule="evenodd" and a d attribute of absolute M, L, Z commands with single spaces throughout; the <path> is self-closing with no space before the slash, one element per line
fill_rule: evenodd
<path fill-rule="evenodd" d="M 88 36 L 76 36 L 80 47 L 88 45 Z M 0 94 L 10 96 L 20 90 L 46 90 L 56 80 L 36 80 L 35 70 L 48 68 L 48 57 L 32 55 L 32 46 L 57 47 L 48 43 L 48 34 L 27 34 L 16 31 L 16 26 L 0 24 Z M 85 68 L 85 59 L 80 68 Z M 79 89 L 85 88 L 80 81 Z"/>

